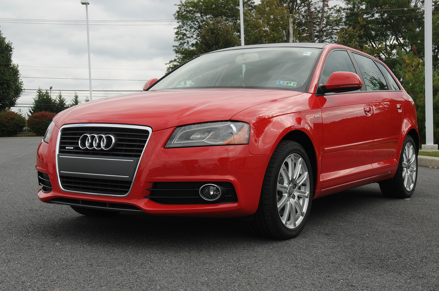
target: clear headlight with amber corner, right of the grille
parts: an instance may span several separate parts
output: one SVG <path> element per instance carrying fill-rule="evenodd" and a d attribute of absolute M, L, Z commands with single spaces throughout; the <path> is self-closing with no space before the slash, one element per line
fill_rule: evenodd
<path fill-rule="evenodd" d="M 219 121 L 184 125 L 176 128 L 166 143 L 166 148 L 206 145 L 248 144 L 250 124 Z"/>

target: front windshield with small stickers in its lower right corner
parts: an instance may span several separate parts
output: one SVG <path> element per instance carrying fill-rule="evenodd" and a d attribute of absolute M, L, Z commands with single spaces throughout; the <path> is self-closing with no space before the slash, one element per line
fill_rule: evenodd
<path fill-rule="evenodd" d="M 305 92 L 320 49 L 268 47 L 201 55 L 149 90 L 263 88 Z"/>

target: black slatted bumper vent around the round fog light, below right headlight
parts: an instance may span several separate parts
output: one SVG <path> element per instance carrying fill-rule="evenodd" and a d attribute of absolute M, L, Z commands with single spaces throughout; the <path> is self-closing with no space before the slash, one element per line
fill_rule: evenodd
<path fill-rule="evenodd" d="M 220 201 L 208 202 L 199 195 L 199 190 L 203 185 L 216 184 L 225 189 L 226 195 Z M 233 184 L 230 182 L 157 182 L 153 183 L 149 196 L 159 204 L 167 205 L 189 205 L 189 204 L 218 204 L 237 202 L 237 196 Z"/>

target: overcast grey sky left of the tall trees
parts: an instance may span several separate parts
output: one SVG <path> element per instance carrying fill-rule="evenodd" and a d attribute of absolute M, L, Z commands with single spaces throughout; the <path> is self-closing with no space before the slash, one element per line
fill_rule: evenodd
<path fill-rule="evenodd" d="M 165 74 L 174 57 L 172 20 L 179 2 L 90 0 L 93 99 L 123 93 L 95 90 L 142 90 L 146 80 Z M 61 91 L 67 103 L 74 91 L 82 102 L 89 95 L 86 6 L 80 0 L 2 1 L 0 31 L 14 47 L 12 60 L 25 88 L 17 106 L 32 104 L 39 87 L 52 86 L 52 98 Z M 29 109 L 12 110 L 19 108 Z"/>

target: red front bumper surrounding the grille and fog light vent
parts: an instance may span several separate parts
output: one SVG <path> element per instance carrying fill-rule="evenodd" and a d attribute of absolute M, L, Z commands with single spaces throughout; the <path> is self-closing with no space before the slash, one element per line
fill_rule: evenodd
<path fill-rule="evenodd" d="M 58 131 L 55 127 L 50 143 L 42 141 L 37 151 L 36 169 L 48 174 L 52 185 L 51 191 L 47 192 L 46 187 L 43 188 L 46 192 L 38 192 L 43 202 L 58 203 L 65 201 L 62 199 L 73 199 L 79 203 L 128 205 L 157 215 L 249 216 L 258 207 L 263 177 L 271 156 L 252 155 L 248 145 L 165 149 L 166 141 L 173 132 L 173 128 L 169 128 L 152 132 L 128 195 L 112 197 L 79 194 L 61 190 L 56 167 Z M 151 191 L 147 189 L 153 188 L 155 183 L 172 182 L 230 183 L 236 192 L 237 202 L 167 205 L 148 198 Z"/>

